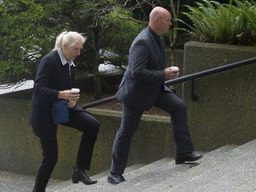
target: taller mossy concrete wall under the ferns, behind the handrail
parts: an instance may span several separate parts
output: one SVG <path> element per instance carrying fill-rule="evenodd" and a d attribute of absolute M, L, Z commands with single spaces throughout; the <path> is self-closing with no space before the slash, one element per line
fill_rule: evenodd
<path fill-rule="evenodd" d="M 226 44 L 185 44 L 183 75 L 256 57 L 255 47 Z M 198 100 L 190 98 L 190 82 L 183 84 L 189 125 L 196 149 L 240 145 L 256 138 L 256 63 L 195 80 Z"/>

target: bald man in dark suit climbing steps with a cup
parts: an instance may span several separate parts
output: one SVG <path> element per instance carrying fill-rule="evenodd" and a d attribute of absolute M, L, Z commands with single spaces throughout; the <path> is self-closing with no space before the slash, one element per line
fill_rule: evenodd
<path fill-rule="evenodd" d="M 164 69 L 164 41 L 162 34 L 171 27 L 171 14 L 163 7 L 150 12 L 149 25 L 134 39 L 128 66 L 116 99 L 123 102 L 123 116 L 112 148 L 112 163 L 108 182 L 124 182 L 132 135 L 140 124 L 144 110 L 161 108 L 172 116 L 172 132 L 176 146 L 176 164 L 200 159 L 193 151 L 188 132 L 187 107 L 164 81 L 179 76 L 179 71 Z M 146 137 L 146 136 L 145 136 Z"/>

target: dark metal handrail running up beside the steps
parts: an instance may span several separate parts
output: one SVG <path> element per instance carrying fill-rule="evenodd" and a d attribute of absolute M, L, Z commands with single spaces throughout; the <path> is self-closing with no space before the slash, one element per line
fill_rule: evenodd
<path fill-rule="evenodd" d="M 165 85 L 171 85 L 171 84 L 178 84 L 178 83 L 182 83 L 188 80 L 192 80 L 192 86 L 191 86 L 191 98 L 195 100 L 195 94 L 194 94 L 194 85 L 195 85 L 195 79 L 202 77 L 202 76 L 209 76 L 215 73 L 219 73 L 228 69 L 232 69 L 232 68 L 239 68 L 245 65 L 249 65 L 256 62 L 256 57 L 251 58 L 251 59 L 247 59 L 247 60 L 241 60 L 241 61 L 237 61 L 237 62 L 233 62 L 233 63 L 229 63 L 227 65 L 224 66 L 220 66 L 217 68 L 210 68 L 204 71 L 200 71 L 200 72 L 196 72 L 194 74 L 190 74 L 187 76 L 180 76 L 178 78 L 172 79 L 172 80 L 168 80 L 165 81 L 164 84 Z M 85 103 L 82 108 L 92 108 L 94 106 L 98 106 L 107 102 L 111 102 L 116 100 L 115 96 L 111 96 L 108 98 L 104 98 L 102 100 L 94 100 L 92 102 L 89 103 Z"/>

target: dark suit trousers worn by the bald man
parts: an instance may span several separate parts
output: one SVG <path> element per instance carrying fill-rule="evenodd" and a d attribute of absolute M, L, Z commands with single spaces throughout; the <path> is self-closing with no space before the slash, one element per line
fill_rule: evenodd
<path fill-rule="evenodd" d="M 156 108 L 161 108 L 171 115 L 172 133 L 176 154 L 192 152 L 194 147 L 188 132 L 187 106 L 173 92 L 161 91 L 156 100 Z M 143 110 L 132 108 L 123 103 L 121 126 L 116 133 L 112 148 L 112 163 L 110 172 L 123 174 L 127 164 L 132 136 L 140 124 Z M 145 136 L 147 137 L 147 136 Z"/>

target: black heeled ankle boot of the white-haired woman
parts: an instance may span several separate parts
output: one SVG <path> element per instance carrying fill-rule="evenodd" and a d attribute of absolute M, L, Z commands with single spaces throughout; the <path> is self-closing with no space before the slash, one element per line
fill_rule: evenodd
<path fill-rule="evenodd" d="M 92 180 L 91 178 L 89 178 L 84 170 L 74 167 L 74 171 L 72 173 L 72 182 L 78 183 L 79 181 L 83 182 L 84 185 L 92 185 L 97 183 L 97 180 Z"/>

